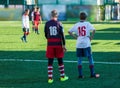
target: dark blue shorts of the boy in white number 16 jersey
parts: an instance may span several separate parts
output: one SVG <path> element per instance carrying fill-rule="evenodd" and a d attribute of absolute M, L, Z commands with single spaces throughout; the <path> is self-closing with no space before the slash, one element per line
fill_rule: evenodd
<path fill-rule="evenodd" d="M 88 57 L 88 56 L 91 56 L 92 55 L 91 47 L 77 48 L 76 49 L 76 55 L 77 55 L 77 57 Z"/>

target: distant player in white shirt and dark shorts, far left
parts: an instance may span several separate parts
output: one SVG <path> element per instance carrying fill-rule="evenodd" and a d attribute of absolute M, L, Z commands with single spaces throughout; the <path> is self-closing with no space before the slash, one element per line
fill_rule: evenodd
<path fill-rule="evenodd" d="M 22 15 L 22 28 L 23 28 L 23 36 L 21 40 L 23 42 L 27 42 L 27 35 L 29 34 L 29 9 L 26 9 L 24 14 Z"/>

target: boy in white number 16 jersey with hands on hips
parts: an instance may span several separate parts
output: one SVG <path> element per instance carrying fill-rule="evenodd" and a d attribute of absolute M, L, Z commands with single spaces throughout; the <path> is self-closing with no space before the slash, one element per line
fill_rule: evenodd
<path fill-rule="evenodd" d="M 98 78 L 100 75 L 95 74 L 94 71 L 94 61 L 93 56 L 91 52 L 91 40 L 94 37 L 95 34 L 95 28 L 91 25 L 91 23 L 85 21 L 87 18 L 87 14 L 85 12 L 80 13 L 80 22 L 76 23 L 69 31 L 68 33 L 77 39 L 76 44 L 76 54 L 78 58 L 78 72 L 79 76 L 78 78 L 84 78 L 82 73 L 82 58 L 88 57 L 89 60 L 89 68 L 90 68 L 90 77 Z M 90 35 L 90 32 L 92 31 L 92 34 Z M 76 35 L 74 35 L 75 33 Z"/>

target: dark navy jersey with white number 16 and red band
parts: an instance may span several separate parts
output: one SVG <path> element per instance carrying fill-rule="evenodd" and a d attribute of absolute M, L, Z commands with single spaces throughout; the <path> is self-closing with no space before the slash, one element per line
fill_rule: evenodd
<path fill-rule="evenodd" d="M 50 20 L 46 22 L 45 37 L 47 38 L 48 46 L 62 46 L 64 41 L 63 27 L 58 21 Z"/>

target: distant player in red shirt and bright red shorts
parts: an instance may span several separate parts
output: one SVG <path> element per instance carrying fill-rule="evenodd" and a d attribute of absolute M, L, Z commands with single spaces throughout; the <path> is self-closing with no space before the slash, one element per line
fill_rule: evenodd
<path fill-rule="evenodd" d="M 41 15 L 40 15 L 40 8 L 37 7 L 36 11 L 34 12 L 34 26 L 35 26 L 35 33 L 39 34 L 38 26 L 42 23 Z"/>

